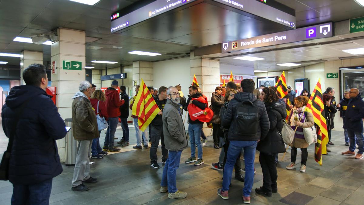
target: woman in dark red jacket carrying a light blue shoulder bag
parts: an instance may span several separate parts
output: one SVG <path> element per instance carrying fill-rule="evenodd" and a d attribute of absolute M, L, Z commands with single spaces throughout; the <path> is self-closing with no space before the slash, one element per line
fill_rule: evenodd
<path fill-rule="evenodd" d="M 95 115 L 99 114 L 100 117 L 105 117 L 105 120 L 107 120 L 108 115 L 105 106 L 105 101 L 106 101 L 106 96 L 101 90 L 95 90 L 95 92 L 92 93 L 92 96 L 90 98 L 91 105 L 95 110 Z M 101 131 L 99 132 L 101 133 Z M 107 152 L 102 151 L 99 139 L 100 138 L 95 138 L 92 140 L 91 158 L 101 159 L 103 158 L 104 155 L 107 155 Z"/>

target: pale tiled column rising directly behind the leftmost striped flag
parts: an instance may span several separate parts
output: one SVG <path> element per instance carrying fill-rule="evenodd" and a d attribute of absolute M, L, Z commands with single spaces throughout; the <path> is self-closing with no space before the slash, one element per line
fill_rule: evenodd
<path fill-rule="evenodd" d="M 135 95 L 135 84 L 134 81 L 137 81 L 137 85 L 140 85 L 143 81 L 147 86 L 153 86 L 153 62 L 149 61 L 135 61 L 133 62 L 133 95 Z"/>

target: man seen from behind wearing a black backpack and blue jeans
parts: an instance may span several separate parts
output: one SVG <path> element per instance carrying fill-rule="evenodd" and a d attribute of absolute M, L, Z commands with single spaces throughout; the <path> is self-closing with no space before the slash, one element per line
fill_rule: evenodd
<path fill-rule="evenodd" d="M 243 189 L 244 203 L 250 203 L 250 192 L 254 179 L 254 158 L 258 141 L 269 131 L 269 119 L 265 105 L 254 96 L 254 82 L 249 79 L 241 81 L 241 93 L 236 93 L 230 101 L 221 124 L 229 127 L 229 150 L 224 168 L 222 188 L 217 194 L 228 199 L 229 185 L 236 159 L 244 149 L 245 182 Z"/>

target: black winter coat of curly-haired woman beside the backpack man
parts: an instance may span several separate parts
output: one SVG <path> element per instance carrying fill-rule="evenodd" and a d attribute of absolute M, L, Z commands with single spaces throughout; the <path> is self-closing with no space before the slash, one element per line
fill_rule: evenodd
<path fill-rule="evenodd" d="M 277 154 L 286 151 L 284 142 L 281 136 L 283 128 L 283 119 L 286 119 L 286 107 L 280 102 L 265 104 L 269 118 L 269 132 L 265 138 L 258 142 L 257 150 L 264 154 Z"/>

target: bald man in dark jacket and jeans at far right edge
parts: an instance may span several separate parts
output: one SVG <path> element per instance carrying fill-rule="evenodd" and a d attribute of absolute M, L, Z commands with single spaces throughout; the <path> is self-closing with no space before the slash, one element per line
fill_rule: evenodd
<path fill-rule="evenodd" d="M 344 129 L 348 130 L 349 150 L 341 152 L 343 155 L 355 156 L 356 139 L 359 141 L 359 151 L 355 159 L 362 159 L 364 152 L 364 136 L 363 136 L 363 118 L 364 118 L 364 101 L 360 97 L 360 92 L 357 88 L 352 88 L 349 91 L 349 103 L 345 112 Z"/>

